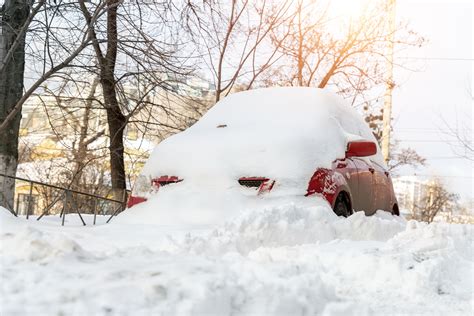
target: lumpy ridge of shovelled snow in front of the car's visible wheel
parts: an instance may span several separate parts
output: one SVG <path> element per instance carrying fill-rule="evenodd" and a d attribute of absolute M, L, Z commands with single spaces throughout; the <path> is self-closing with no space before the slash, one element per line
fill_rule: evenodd
<path fill-rule="evenodd" d="M 207 236 L 188 235 L 187 251 L 243 255 L 261 247 L 327 243 L 337 239 L 387 241 L 405 230 L 406 221 L 379 211 L 374 216 L 357 212 L 337 217 L 326 206 L 304 207 L 293 203 L 248 210 Z"/>

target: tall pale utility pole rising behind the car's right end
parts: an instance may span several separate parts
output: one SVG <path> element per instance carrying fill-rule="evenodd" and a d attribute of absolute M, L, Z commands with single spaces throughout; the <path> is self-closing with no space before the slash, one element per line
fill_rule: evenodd
<path fill-rule="evenodd" d="M 383 104 L 382 154 L 385 163 L 390 160 L 390 133 L 392 122 L 392 92 L 393 82 L 393 41 L 395 33 L 395 0 L 387 0 L 389 37 L 387 44 L 387 74 Z"/>

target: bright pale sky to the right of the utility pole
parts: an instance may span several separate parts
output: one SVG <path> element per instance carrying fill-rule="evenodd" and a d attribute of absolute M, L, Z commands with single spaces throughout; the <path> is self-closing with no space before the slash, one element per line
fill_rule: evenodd
<path fill-rule="evenodd" d="M 452 146 L 459 142 L 443 132 L 447 130 L 443 120 L 450 126 L 464 124 L 462 132 L 472 146 L 473 10 L 468 0 L 397 2 L 397 17 L 409 19 L 412 28 L 428 39 L 423 48 L 405 53 L 417 58 L 413 62 L 421 71 L 395 71 L 395 80 L 401 83 L 394 92 L 395 137 L 428 162 L 426 168 L 403 173 L 439 176 L 464 199 L 474 195 L 473 163 L 453 152 Z"/>

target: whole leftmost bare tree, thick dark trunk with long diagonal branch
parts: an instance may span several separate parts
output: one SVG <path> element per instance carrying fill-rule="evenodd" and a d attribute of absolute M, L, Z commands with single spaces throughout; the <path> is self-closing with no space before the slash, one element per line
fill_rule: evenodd
<path fill-rule="evenodd" d="M 23 104 L 45 81 L 61 69 L 68 67 L 90 41 L 89 25 L 82 21 L 69 20 L 64 15 L 58 14 L 56 3 L 38 1 L 34 7 L 32 7 L 32 3 L 34 2 L 12 0 L 6 1 L 2 7 L 0 86 L 3 87 L 1 88 L 3 92 L 0 92 L 2 98 L 0 132 L 8 131 L 11 135 L 0 141 L 0 150 L 2 151 L 0 170 L 9 175 L 14 175 L 17 169 L 18 132 Z M 102 6 L 98 6 L 92 14 L 91 23 L 95 22 L 102 12 Z M 55 33 L 55 22 L 52 21 L 55 19 L 47 19 L 46 23 L 38 21 L 36 18 L 40 13 L 61 20 L 60 22 L 56 21 L 57 24 L 66 23 L 70 27 L 67 34 L 69 40 L 61 41 L 60 33 Z M 62 39 L 64 39 L 64 25 L 58 27 L 57 24 L 56 31 L 61 29 Z M 39 29 L 41 31 L 38 31 Z M 38 34 L 41 34 L 41 39 L 36 36 Z M 28 46 L 25 45 L 26 37 L 29 37 Z M 54 48 L 50 45 L 52 39 L 56 43 Z M 43 46 L 41 51 L 36 47 L 36 44 L 40 43 Z M 35 49 L 31 49 L 33 46 Z M 41 67 L 36 72 L 38 76 L 23 91 L 25 52 L 31 53 L 32 58 L 40 55 L 41 62 L 39 64 Z M 56 58 L 59 55 L 61 58 Z M 57 62 L 57 59 L 60 61 Z M 11 209 L 14 183 L 10 181 L 4 183 L 3 186 L 0 204 Z"/>

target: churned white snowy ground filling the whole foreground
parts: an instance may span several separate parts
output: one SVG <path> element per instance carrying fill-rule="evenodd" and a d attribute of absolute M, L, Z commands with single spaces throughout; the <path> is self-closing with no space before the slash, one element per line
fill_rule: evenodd
<path fill-rule="evenodd" d="M 294 204 L 210 231 L 0 216 L 1 315 L 473 314 L 472 225 Z"/>

